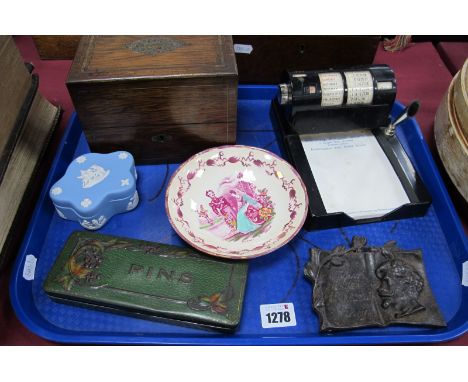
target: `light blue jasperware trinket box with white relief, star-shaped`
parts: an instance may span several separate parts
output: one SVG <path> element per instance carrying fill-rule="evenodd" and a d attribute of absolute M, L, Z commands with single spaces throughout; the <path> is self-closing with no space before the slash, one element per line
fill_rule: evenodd
<path fill-rule="evenodd" d="M 49 195 L 60 217 L 96 230 L 138 205 L 136 179 L 135 161 L 126 151 L 84 154 L 73 160 Z"/>

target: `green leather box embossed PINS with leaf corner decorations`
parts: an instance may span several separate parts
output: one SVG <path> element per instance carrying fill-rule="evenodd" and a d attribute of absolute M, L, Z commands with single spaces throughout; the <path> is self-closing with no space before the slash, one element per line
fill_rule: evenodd
<path fill-rule="evenodd" d="M 49 272 L 44 290 L 59 303 L 234 331 L 241 319 L 246 278 L 245 261 L 75 232 Z"/>

